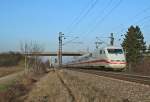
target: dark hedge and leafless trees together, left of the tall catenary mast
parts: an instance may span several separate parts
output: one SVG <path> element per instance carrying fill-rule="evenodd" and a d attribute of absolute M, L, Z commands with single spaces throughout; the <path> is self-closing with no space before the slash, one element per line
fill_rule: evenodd
<path fill-rule="evenodd" d="M 20 43 L 21 52 L 4 52 L 0 54 L 0 67 L 22 65 L 26 72 L 43 73 L 49 68 L 49 60 L 43 61 L 41 56 L 28 56 L 33 52 L 43 52 L 44 48 L 37 42 Z"/>

